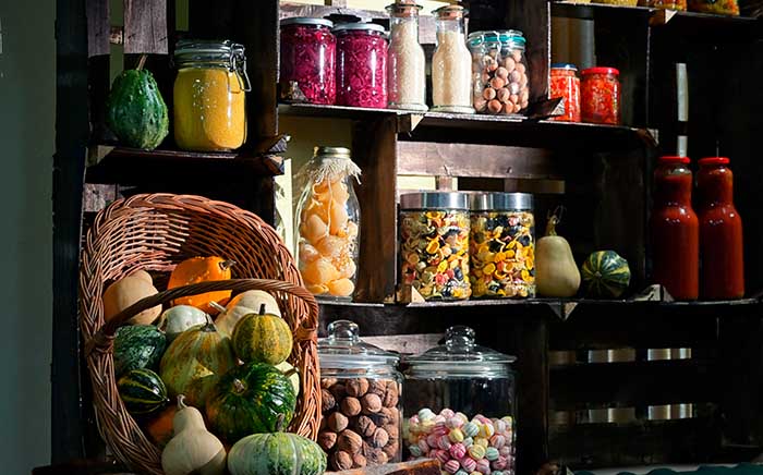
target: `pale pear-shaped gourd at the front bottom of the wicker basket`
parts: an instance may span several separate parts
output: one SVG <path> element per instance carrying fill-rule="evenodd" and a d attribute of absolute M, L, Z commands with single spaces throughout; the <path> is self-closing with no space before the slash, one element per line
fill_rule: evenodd
<path fill-rule="evenodd" d="M 161 452 L 161 468 L 166 475 L 222 475 L 226 449 L 207 430 L 202 413 L 185 405 L 184 399 L 178 395 L 178 412 L 172 419 L 174 437 Z"/>

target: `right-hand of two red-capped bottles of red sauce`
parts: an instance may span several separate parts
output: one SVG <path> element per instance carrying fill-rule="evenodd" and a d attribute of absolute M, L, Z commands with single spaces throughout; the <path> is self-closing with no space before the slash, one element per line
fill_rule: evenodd
<path fill-rule="evenodd" d="M 742 219 L 734 207 L 734 173 L 728 158 L 700 160 L 697 173 L 702 255 L 702 297 L 744 296 Z"/>

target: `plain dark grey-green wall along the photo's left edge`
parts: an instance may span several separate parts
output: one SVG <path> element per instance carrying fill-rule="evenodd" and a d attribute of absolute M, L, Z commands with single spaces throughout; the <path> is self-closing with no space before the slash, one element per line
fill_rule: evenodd
<path fill-rule="evenodd" d="M 0 461 L 50 461 L 53 0 L 0 1 Z"/>

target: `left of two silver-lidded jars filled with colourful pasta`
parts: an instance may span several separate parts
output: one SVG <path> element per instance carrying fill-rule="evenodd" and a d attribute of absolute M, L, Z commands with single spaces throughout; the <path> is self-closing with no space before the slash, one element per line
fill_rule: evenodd
<path fill-rule="evenodd" d="M 401 284 L 411 285 L 425 300 L 469 299 L 468 195 L 401 195 L 400 258 Z"/>

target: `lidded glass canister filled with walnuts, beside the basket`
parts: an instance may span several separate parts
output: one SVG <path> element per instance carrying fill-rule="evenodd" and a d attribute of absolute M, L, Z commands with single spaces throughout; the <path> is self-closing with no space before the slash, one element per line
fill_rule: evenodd
<path fill-rule="evenodd" d="M 330 470 L 399 462 L 402 376 L 398 355 L 364 343 L 358 325 L 337 320 L 318 341 L 323 418 L 318 444 Z"/>

